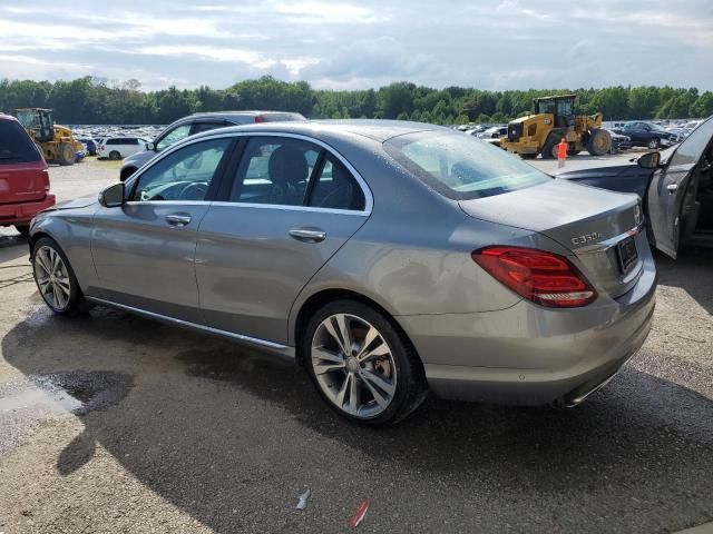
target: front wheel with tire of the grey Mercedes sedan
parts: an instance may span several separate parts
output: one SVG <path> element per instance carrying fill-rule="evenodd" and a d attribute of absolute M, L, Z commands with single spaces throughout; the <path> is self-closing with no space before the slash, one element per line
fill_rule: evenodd
<path fill-rule="evenodd" d="M 31 259 L 37 288 L 52 312 L 59 315 L 75 315 L 91 308 L 84 299 L 67 256 L 53 239 L 38 239 L 32 247 Z"/>

